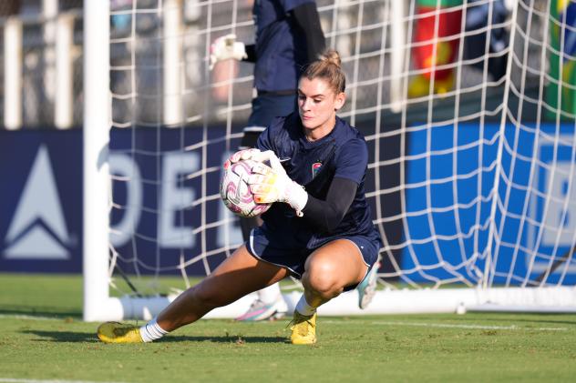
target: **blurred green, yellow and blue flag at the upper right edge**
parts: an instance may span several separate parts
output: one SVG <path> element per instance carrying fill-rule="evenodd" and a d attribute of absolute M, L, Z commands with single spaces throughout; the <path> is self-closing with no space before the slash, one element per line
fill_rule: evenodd
<path fill-rule="evenodd" d="M 576 116 L 575 28 L 576 4 L 567 0 L 551 0 L 550 84 L 546 89 L 546 102 L 554 108 L 547 109 L 548 116 L 554 120 L 559 114 L 561 120 L 568 121 L 573 121 Z"/>

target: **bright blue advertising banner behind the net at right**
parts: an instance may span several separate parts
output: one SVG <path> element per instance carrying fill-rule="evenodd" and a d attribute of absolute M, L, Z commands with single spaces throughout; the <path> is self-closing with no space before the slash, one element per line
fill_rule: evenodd
<path fill-rule="evenodd" d="M 574 138 L 573 126 L 552 124 L 509 125 L 503 133 L 490 124 L 412 132 L 404 232 L 409 246 L 402 257 L 402 268 L 411 270 L 406 277 L 430 283 L 462 277 L 475 283 L 488 271 L 496 284 L 530 285 L 540 276 L 548 283 L 576 283 L 573 260 L 543 274 L 576 240 Z"/>

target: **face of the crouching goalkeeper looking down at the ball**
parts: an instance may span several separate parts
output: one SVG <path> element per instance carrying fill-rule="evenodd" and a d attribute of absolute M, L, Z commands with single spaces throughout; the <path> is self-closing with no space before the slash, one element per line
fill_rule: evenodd
<path fill-rule="evenodd" d="M 323 78 L 300 79 L 298 111 L 305 128 L 317 130 L 317 133 L 330 133 L 334 128 L 336 111 L 344 106 L 344 102 L 345 94 L 334 92 Z"/>

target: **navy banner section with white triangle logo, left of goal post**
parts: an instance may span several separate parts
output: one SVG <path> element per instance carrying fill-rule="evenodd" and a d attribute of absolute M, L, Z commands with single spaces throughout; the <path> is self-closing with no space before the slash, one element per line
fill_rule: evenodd
<path fill-rule="evenodd" d="M 81 131 L 0 131 L 0 271 L 82 270 Z"/>

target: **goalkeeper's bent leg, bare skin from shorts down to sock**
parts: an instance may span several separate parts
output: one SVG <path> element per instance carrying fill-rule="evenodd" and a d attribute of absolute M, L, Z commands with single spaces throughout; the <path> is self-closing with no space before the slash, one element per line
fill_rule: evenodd
<path fill-rule="evenodd" d="M 319 307 L 346 286 L 360 283 L 368 267 L 353 242 L 337 239 L 314 251 L 304 268 L 304 297 L 310 306 Z"/>

